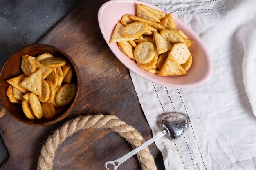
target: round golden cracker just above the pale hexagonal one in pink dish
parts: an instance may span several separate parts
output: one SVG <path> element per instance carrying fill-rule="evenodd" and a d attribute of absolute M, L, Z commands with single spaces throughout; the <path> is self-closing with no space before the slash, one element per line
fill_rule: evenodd
<path fill-rule="evenodd" d="M 184 39 L 180 36 L 180 34 L 176 33 L 173 30 L 163 29 L 160 32 L 160 35 L 162 35 L 164 39 L 166 39 L 168 42 L 170 42 L 173 45 L 180 42 L 184 42 Z"/>

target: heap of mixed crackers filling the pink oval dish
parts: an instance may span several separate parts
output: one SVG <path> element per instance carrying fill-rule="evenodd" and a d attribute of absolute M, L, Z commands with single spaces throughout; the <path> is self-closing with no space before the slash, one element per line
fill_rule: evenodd
<path fill-rule="evenodd" d="M 186 75 L 192 64 L 193 41 L 176 29 L 171 13 L 143 4 L 137 4 L 137 16 L 125 14 L 117 22 L 114 42 L 139 68 L 159 76 Z"/>

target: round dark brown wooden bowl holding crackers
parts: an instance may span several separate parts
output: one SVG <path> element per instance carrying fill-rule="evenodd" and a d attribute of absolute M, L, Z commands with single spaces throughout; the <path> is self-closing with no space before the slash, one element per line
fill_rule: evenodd
<path fill-rule="evenodd" d="M 27 54 L 27 55 L 37 57 L 38 55 L 43 53 L 50 53 L 54 56 L 64 57 L 67 59 L 68 62 L 72 64 L 73 70 L 74 70 L 72 82 L 77 84 L 77 91 L 76 91 L 76 95 L 74 97 L 73 102 L 67 105 L 66 108 L 61 113 L 56 115 L 53 119 L 47 120 L 42 118 L 42 119 L 30 120 L 24 115 L 22 110 L 22 104 L 11 103 L 9 101 L 6 95 L 6 90 L 9 84 L 6 82 L 6 80 L 22 74 L 22 70 L 20 69 L 22 55 Z M 79 79 L 79 70 L 69 55 L 67 55 L 65 52 L 61 51 L 60 49 L 57 49 L 54 46 L 49 46 L 45 44 L 36 44 L 36 45 L 27 46 L 23 49 L 20 49 L 19 51 L 14 53 L 9 58 L 9 60 L 7 60 L 7 62 L 4 64 L 2 71 L 0 73 L 0 87 L 1 87 L 0 99 L 4 108 L 7 110 L 7 112 L 11 114 L 18 121 L 21 121 L 22 123 L 29 124 L 29 125 L 35 125 L 35 126 L 49 125 L 49 124 L 53 124 L 58 121 L 61 121 L 72 112 L 73 108 L 78 102 L 79 95 L 81 94 L 79 93 L 79 91 L 81 91 L 80 83 L 81 81 Z"/>

